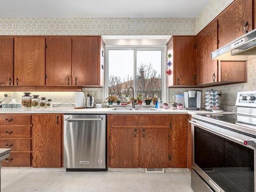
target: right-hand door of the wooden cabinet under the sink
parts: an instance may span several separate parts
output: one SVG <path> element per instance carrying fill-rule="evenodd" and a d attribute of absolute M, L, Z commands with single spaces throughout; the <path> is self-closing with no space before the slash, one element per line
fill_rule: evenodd
<path fill-rule="evenodd" d="M 167 168 L 168 130 L 166 128 L 140 129 L 140 167 Z"/>

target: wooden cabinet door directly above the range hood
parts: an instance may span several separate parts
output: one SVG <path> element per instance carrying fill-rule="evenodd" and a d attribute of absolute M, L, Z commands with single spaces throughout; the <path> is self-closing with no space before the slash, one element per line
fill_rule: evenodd
<path fill-rule="evenodd" d="M 245 34 L 244 26 L 248 22 L 248 31 L 252 30 L 252 0 L 238 0 L 220 17 L 219 48 Z"/>

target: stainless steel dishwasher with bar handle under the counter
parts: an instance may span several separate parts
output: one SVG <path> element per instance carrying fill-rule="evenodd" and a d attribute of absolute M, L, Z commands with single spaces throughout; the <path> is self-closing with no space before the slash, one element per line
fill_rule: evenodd
<path fill-rule="evenodd" d="M 66 170 L 106 170 L 106 116 L 66 114 L 64 119 Z"/>

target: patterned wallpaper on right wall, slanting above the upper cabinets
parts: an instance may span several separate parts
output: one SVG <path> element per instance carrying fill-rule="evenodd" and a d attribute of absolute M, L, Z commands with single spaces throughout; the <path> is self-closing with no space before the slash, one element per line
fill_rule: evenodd
<path fill-rule="evenodd" d="M 208 23 L 220 14 L 233 0 L 210 0 L 209 4 L 196 18 L 196 33 L 200 32 Z"/>

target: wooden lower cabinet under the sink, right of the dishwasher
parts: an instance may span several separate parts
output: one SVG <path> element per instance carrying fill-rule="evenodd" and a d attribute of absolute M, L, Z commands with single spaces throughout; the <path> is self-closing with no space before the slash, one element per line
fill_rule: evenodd
<path fill-rule="evenodd" d="M 110 138 L 108 166 L 186 168 L 187 117 L 187 115 L 140 115 L 135 118 L 132 115 L 108 115 Z M 125 118 L 130 119 L 131 123 L 125 121 Z M 115 121 L 111 121 L 113 119 Z M 121 127 L 118 121 L 132 125 Z"/>

